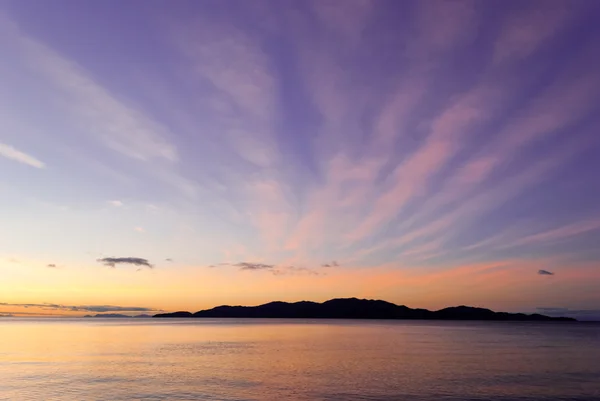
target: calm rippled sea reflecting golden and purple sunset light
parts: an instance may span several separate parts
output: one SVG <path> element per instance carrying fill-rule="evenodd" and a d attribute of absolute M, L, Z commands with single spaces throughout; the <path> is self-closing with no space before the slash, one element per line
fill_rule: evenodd
<path fill-rule="evenodd" d="M 600 325 L 2 318 L 0 400 L 600 400 Z"/>

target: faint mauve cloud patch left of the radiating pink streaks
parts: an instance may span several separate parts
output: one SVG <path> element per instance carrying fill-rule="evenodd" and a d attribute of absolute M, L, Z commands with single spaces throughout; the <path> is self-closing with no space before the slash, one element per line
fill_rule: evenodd
<path fill-rule="evenodd" d="M 274 139 L 279 86 L 260 42 L 231 23 L 201 18 L 174 28 L 175 42 L 201 83 L 215 90 L 203 98 L 215 130 L 242 159 L 259 167 L 280 161 Z"/>

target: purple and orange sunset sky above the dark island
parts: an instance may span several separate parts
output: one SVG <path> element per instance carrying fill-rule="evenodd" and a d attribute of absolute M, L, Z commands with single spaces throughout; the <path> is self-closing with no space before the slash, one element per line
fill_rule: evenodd
<path fill-rule="evenodd" d="M 0 314 L 600 318 L 600 3 L 0 0 Z"/>

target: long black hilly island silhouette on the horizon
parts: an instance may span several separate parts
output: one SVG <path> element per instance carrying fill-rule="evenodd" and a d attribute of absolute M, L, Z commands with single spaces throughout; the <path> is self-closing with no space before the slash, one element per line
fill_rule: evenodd
<path fill-rule="evenodd" d="M 563 321 L 569 317 L 550 317 L 534 313 L 494 312 L 471 306 L 455 306 L 437 311 L 412 309 L 391 302 L 358 298 L 338 298 L 323 303 L 269 302 L 258 306 L 217 306 L 196 313 L 179 311 L 159 313 L 155 318 L 285 318 L 285 319 L 422 319 L 422 320 L 495 320 Z"/>

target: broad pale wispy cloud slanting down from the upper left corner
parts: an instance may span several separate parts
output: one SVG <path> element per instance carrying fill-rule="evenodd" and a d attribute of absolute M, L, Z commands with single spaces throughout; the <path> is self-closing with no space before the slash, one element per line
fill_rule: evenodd
<path fill-rule="evenodd" d="M 0 31 L 22 68 L 39 82 L 40 98 L 52 94 L 55 102 L 49 107 L 60 113 L 61 129 L 81 134 L 70 138 L 70 143 L 65 141 L 64 148 L 54 151 L 69 154 L 89 168 L 125 181 L 131 181 L 131 174 L 136 180 L 149 176 L 187 197 L 198 194 L 194 180 L 185 177 L 176 167 L 180 155 L 170 126 L 147 113 L 138 102 L 109 88 L 75 59 L 30 35 L 4 13 L 0 14 Z M 64 136 L 69 139 L 69 135 Z M 98 145 L 123 156 L 123 163 L 146 163 L 143 174 L 135 169 L 116 171 L 97 160 L 98 152 L 87 152 L 87 158 L 80 154 L 82 147 Z M 43 163 L 36 159 L 21 159 L 43 168 Z"/>

